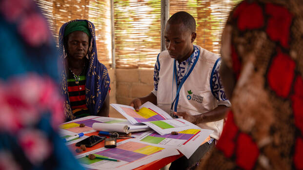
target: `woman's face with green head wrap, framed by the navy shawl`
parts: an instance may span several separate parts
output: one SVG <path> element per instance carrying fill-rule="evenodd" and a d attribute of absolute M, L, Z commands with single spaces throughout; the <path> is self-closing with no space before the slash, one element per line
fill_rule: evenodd
<path fill-rule="evenodd" d="M 69 23 L 64 30 L 64 44 L 70 59 L 83 59 L 88 51 L 90 31 L 86 21 Z"/>

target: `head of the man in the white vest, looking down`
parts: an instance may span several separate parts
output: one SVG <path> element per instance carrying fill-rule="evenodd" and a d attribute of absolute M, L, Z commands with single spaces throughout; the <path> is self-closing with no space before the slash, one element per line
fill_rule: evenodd
<path fill-rule="evenodd" d="M 165 46 L 170 57 L 179 62 L 190 57 L 196 36 L 196 21 L 193 16 L 183 11 L 172 15 L 164 31 Z"/>

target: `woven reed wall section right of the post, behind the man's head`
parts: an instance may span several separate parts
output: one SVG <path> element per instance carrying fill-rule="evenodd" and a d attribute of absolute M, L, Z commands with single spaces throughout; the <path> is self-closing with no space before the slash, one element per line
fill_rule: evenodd
<path fill-rule="evenodd" d="M 222 29 L 229 12 L 242 0 L 170 0 L 170 16 L 185 11 L 196 19 L 194 44 L 220 55 Z"/>

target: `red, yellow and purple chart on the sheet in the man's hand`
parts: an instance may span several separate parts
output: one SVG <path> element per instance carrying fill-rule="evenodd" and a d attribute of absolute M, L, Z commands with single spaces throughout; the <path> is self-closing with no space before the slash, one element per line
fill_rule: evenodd
<path fill-rule="evenodd" d="M 121 109 L 127 113 L 129 116 L 134 117 L 138 122 L 149 122 L 156 120 L 165 120 L 160 114 L 156 113 L 150 108 L 142 107 L 139 112 L 132 109 L 121 107 Z"/>

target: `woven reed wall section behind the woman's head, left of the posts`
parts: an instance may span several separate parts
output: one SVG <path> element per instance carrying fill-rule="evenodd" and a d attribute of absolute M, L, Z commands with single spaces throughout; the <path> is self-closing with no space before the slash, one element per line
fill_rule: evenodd
<path fill-rule="evenodd" d="M 96 28 L 98 59 L 111 65 L 111 22 L 109 0 L 36 0 L 58 43 L 59 30 L 72 19 L 87 19 Z"/>

